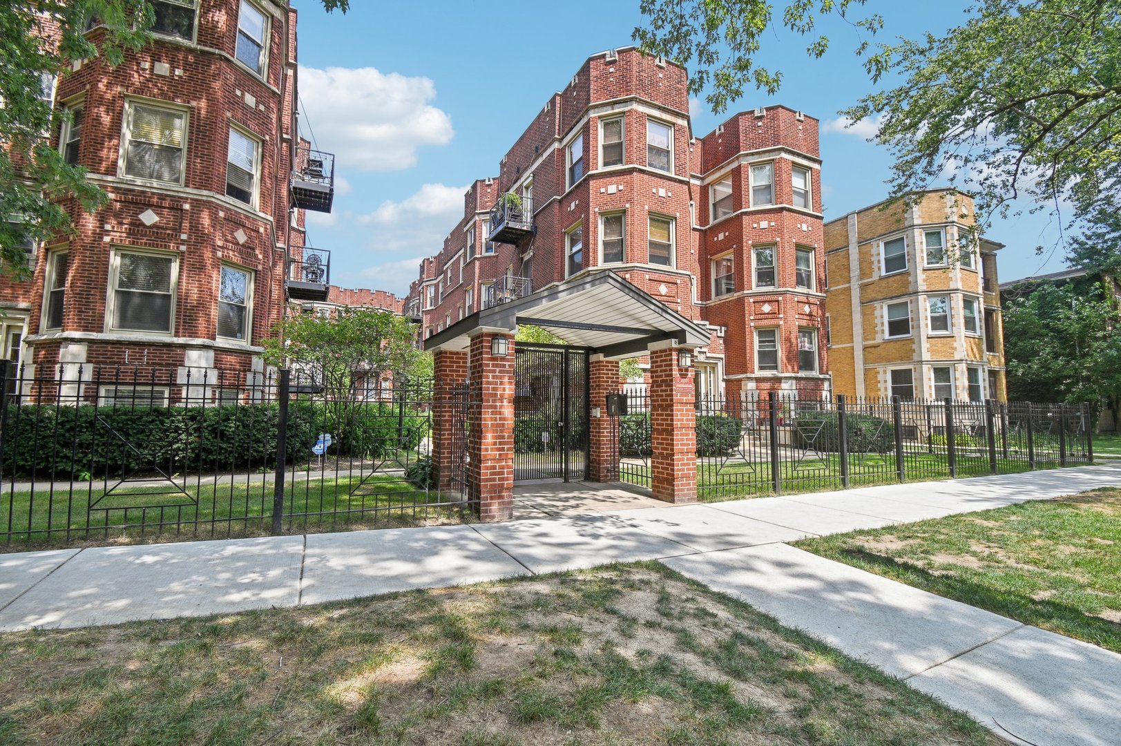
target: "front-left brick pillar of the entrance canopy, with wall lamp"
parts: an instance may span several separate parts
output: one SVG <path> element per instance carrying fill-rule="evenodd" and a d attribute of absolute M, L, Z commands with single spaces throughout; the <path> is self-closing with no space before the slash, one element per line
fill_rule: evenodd
<path fill-rule="evenodd" d="M 504 338 L 507 353 L 492 352 Z M 480 332 L 471 338 L 471 381 L 481 402 L 467 440 L 467 489 L 482 521 L 513 516 L 513 335 Z"/>

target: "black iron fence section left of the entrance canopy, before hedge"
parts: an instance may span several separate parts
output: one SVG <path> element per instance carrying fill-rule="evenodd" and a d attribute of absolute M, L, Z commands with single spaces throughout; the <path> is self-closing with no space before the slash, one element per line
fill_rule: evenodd
<path fill-rule="evenodd" d="M 467 390 L 380 397 L 272 375 L 0 362 L 0 540 L 225 537 L 458 521 L 473 505 L 432 463 L 437 412 L 466 448 Z M 462 431 L 456 436 L 455 427 Z"/>

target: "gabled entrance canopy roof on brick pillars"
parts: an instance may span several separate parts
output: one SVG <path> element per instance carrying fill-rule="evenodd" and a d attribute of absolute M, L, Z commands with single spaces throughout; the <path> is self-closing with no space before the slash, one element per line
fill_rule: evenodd
<path fill-rule="evenodd" d="M 424 347 L 465 350 L 475 330 L 513 333 L 518 324 L 540 326 L 609 359 L 646 354 L 656 342 L 695 348 L 710 341 L 697 323 L 614 273 L 599 271 L 473 313 L 426 339 Z"/>

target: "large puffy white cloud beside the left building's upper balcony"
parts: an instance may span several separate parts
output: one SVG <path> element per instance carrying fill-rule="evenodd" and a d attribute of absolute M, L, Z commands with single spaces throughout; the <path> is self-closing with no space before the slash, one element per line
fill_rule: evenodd
<path fill-rule="evenodd" d="M 408 168 L 417 162 L 417 148 L 447 145 L 454 135 L 451 117 L 429 104 L 436 86 L 427 77 L 300 65 L 299 90 L 304 123 L 346 168 Z"/>

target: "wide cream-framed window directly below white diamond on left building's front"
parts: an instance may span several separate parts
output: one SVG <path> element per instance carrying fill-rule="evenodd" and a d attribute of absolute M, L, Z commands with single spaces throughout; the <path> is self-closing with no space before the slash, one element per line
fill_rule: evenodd
<path fill-rule="evenodd" d="M 172 333 L 178 257 L 118 251 L 111 277 L 110 328 Z"/>

